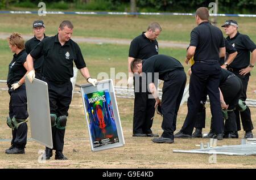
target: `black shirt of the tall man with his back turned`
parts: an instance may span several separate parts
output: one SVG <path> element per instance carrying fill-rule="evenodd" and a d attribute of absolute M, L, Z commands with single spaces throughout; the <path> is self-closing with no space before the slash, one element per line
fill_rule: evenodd
<path fill-rule="evenodd" d="M 196 46 L 195 61 L 219 61 L 220 48 L 225 47 L 224 37 L 219 28 L 202 22 L 191 32 L 189 46 Z"/>

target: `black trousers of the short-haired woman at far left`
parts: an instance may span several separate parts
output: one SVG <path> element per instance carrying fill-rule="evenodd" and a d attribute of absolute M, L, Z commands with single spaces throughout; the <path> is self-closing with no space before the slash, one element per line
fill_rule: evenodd
<path fill-rule="evenodd" d="M 9 117 L 13 119 L 27 119 L 27 95 L 26 85 L 22 84 L 18 89 L 9 87 Z M 11 145 L 23 149 L 27 144 L 27 123 L 22 123 L 18 128 L 12 130 L 13 139 Z"/>

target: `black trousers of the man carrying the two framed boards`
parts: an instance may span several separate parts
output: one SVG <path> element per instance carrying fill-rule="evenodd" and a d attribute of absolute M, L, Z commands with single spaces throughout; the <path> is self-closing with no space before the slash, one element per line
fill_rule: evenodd
<path fill-rule="evenodd" d="M 49 82 L 46 78 L 43 78 L 43 80 L 48 84 L 49 108 L 51 114 L 56 114 L 57 117 L 61 115 L 68 116 L 68 109 L 72 100 L 72 83 L 56 84 L 54 82 Z M 56 126 L 52 127 L 53 149 L 63 151 L 64 135 L 65 129 L 60 130 L 59 128 L 56 128 Z"/>

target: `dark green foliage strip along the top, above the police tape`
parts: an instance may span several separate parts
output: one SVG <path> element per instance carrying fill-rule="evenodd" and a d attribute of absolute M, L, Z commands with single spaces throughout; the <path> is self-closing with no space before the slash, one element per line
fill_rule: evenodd
<path fill-rule="evenodd" d="M 196 8 L 208 7 L 209 3 L 215 0 L 0 0 L 0 8 L 38 8 L 39 2 L 46 3 L 47 8 L 60 10 L 195 12 Z M 255 12 L 256 0 L 218 0 L 218 13 L 255 14 Z"/>

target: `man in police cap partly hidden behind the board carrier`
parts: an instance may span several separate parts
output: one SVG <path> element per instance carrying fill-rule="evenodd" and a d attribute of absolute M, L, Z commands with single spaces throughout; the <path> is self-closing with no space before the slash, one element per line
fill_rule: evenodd
<path fill-rule="evenodd" d="M 32 37 L 25 43 L 25 49 L 27 54 L 29 54 L 31 50 L 33 50 L 35 46 L 39 44 L 39 42 L 41 42 L 44 38 L 48 37 L 44 34 L 44 32 L 46 31 L 46 26 L 44 25 L 44 22 L 42 20 L 36 20 L 32 24 L 32 28 L 34 37 Z M 41 66 L 43 63 L 43 58 L 44 57 L 42 56 L 34 60 L 35 77 L 37 79 L 42 79 Z"/>

